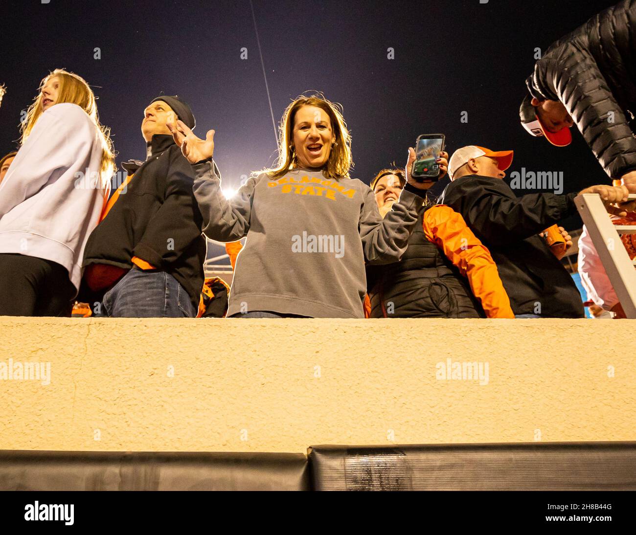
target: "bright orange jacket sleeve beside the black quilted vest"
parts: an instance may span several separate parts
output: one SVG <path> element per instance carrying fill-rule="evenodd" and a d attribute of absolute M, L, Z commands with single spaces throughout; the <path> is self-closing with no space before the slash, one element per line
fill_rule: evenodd
<path fill-rule="evenodd" d="M 424 235 L 468 279 L 488 318 L 514 318 L 510 299 L 490 251 L 468 228 L 460 213 L 436 205 L 424 213 Z"/>

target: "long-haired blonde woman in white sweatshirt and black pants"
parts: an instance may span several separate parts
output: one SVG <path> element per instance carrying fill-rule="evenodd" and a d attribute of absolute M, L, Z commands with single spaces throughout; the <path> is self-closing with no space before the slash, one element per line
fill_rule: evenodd
<path fill-rule="evenodd" d="M 56 69 L 42 80 L 0 184 L 0 316 L 70 315 L 113 171 L 93 91 Z"/>

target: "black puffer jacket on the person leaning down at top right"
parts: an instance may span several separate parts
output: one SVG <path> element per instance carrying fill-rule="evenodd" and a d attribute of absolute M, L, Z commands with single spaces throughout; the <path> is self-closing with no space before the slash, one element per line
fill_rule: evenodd
<path fill-rule="evenodd" d="M 636 0 L 619 2 L 553 43 L 527 86 L 533 97 L 565 105 L 609 177 L 636 170 L 627 117 L 636 114 Z"/>

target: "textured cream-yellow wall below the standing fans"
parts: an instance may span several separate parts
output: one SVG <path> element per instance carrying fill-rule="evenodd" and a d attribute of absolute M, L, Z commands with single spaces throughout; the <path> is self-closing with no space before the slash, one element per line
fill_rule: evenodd
<path fill-rule="evenodd" d="M 0 449 L 635 440 L 634 326 L 0 317 Z M 448 359 L 481 381 L 439 378 Z"/>

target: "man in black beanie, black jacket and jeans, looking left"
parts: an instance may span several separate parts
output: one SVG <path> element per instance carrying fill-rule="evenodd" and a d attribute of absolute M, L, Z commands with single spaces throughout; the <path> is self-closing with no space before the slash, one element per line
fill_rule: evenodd
<path fill-rule="evenodd" d="M 177 119 L 195 127 L 181 98 L 151 100 L 141 123 L 146 161 L 121 165 L 128 175 L 88 239 L 84 284 L 97 296 L 96 315 L 197 316 L 206 246 L 194 175 L 167 126 Z"/>

